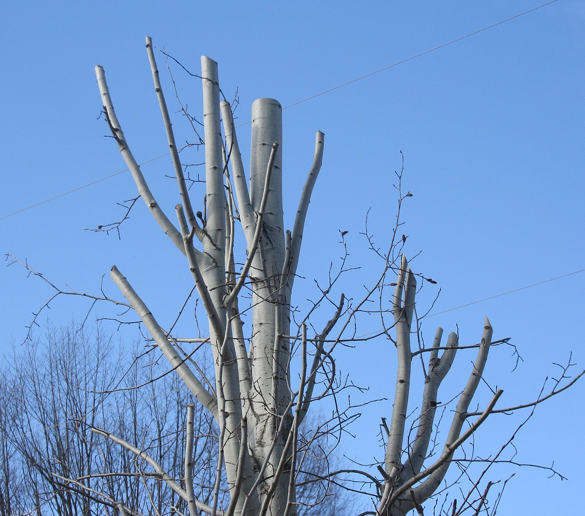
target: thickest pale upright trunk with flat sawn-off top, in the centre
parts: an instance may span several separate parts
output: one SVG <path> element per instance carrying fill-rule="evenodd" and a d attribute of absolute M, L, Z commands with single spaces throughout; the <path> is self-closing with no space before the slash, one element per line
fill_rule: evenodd
<path fill-rule="evenodd" d="M 252 105 L 250 201 L 256 213 L 264 193 L 270 152 L 273 143 L 280 142 L 281 138 L 280 104 L 269 98 L 255 101 Z M 254 467 L 260 472 L 265 466 L 259 494 L 267 513 L 272 515 L 283 514 L 290 479 L 290 464 L 287 464 L 286 457 L 283 459 L 292 421 L 287 384 L 290 350 L 288 342 L 281 338 L 288 334 L 290 326 L 290 293 L 285 279 L 283 281 L 285 255 L 282 153 L 279 146 L 269 184 L 259 249 L 250 271 L 253 279 L 250 400 L 254 419 Z"/>

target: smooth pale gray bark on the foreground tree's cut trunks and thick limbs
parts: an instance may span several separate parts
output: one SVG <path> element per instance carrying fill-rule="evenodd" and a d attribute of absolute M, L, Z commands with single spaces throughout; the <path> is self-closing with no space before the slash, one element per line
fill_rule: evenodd
<path fill-rule="evenodd" d="M 314 161 L 302 191 L 292 232 L 284 230 L 282 204 L 282 114 L 276 100 L 262 98 L 252 107 L 252 149 L 250 158 L 250 186 L 246 185 L 238 139 L 228 102 L 219 102 L 219 79 L 215 61 L 202 57 L 202 86 L 205 126 L 205 177 L 207 220 L 199 226 L 195 220 L 182 166 L 174 142 L 170 117 L 160 85 L 152 42 L 147 40 L 154 86 L 159 98 L 173 166 L 183 204 L 176 207 L 180 231 L 172 227 L 166 216 L 157 208 L 156 201 L 140 174 L 129 151 L 119 122 L 115 118 L 103 70 L 98 69 L 98 82 L 112 132 L 118 135 L 122 155 L 132 165 L 133 176 L 159 224 L 187 257 L 188 265 L 197 285 L 209 318 L 209 334 L 215 367 L 215 393 L 210 394 L 190 373 L 167 334 L 154 320 L 152 314 L 133 292 L 128 281 L 112 269 L 115 279 L 126 298 L 139 313 L 157 345 L 167 356 L 177 373 L 191 389 L 195 397 L 207 406 L 219 424 L 220 455 L 214 501 L 209 507 L 211 514 L 218 513 L 218 490 L 221 469 L 225 467 L 232 501 L 229 514 L 295 514 L 294 471 L 297 460 L 297 430 L 312 400 L 316 374 L 323 361 L 330 357 L 325 353 L 324 341 L 342 313 L 345 299 L 341 298 L 333 319 L 316 337 L 316 351 L 311 367 L 303 361 L 301 385 L 298 392 L 290 391 L 290 301 L 292 285 L 300 256 L 302 234 L 307 217 L 311 193 L 321 169 L 324 135 L 316 134 Z M 222 139 L 220 112 L 225 129 Z M 235 199 L 231 197 L 232 182 L 228 170 L 233 172 L 233 188 L 238 202 L 240 223 L 246 238 L 247 257 L 239 273 L 233 271 L 235 259 L 234 213 Z M 226 197 L 226 187 L 230 197 Z M 197 236 L 203 250 L 194 247 Z M 246 346 L 242 320 L 238 313 L 238 296 L 245 282 L 252 285 L 252 339 Z M 448 462 L 421 473 L 428 453 L 436 394 L 442 379 L 449 371 L 455 357 L 457 339 L 451 334 L 448 350 L 439 359 L 438 350 L 429 358 L 429 373 L 422 400 L 417 436 L 411 449 L 405 451 L 405 424 L 408 414 L 408 398 L 411 382 L 412 319 L 414 315 L 417 282 L 403 256 L 393 298 L 393 315 L 398 352 L 397 381 L 393 414 L 386 450 L 386 488 L 381 496 L 380 514 L 401 514 L 411 507 L 412 501 L 398 496 L 397 488 L 404 487 L 412 479 L 426 478 L 414 488 L 417 500 L 431 496 L 445 475 Z M 373 291 L 370 291 L 370 293 Z M 438 330 L 435 347 L 440 347 L 441 332 Z M 486 336 L 486 350 L 489 339 Z M 302 354 L 307 353 L 306 329 L 303 330 Z M 473 378 L 479 381 L 487 351 L 480 354 Z M 331 386 L 330 386 L 331 387 Z M 467 405 L 473 396 L 477 382 L 466 387 L 457 418 L 449 433 L 446 450 L 459 437 L 466 417 Z M 246 424 L 249 421 L 250 424 Z M 187 433 L 187 438 L 189 436 Z M 188 438 L 189 439 L 189 438 Z M 187 443 L 189 440 L 187 439 Z M 447 452 L 445 452 L 447 453 Z M 185 459 L 187 461 L 187 459 Z M 188 462 L 185 478 L 188 479 Z M 426 474 L 425 474 L 426 471 Z M 411 484 L 414 485 L 414 484 Z M 194 510 L 192 490 L 181 491 Z M 200 505 L 197 505 L 200 508 Z"/>

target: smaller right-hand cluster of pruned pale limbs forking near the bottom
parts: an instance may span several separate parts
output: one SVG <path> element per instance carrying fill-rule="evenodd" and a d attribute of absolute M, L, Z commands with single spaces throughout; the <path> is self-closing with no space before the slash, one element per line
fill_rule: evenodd
<path fill-rule="evenodd" d="M 455 360 L 457 335 L 455 333 L 449 334 L 446 348 L 441 358 L 439 358 L 443 330 L 441 328 L 437 329 L 433 347 L 429 354 L 421 412 L 417 421 L 417 432 L 411 445 L 407 446 L 407 443 L 405 443 L 405 423 L 408 415 L 408 395 L 411 381 L 412 350 L 410 334 L 415 296 L 416 281 L 408 267 L 407 259 L 402 255 L 393 299 L 395 344 L 398 353 L 397 382 L 391 424 L 388 430 L 384 489 L 377 508 L 377 514 L 384 516 L 403 516 L 417 507 L 417 505 L 421 507 L 420 504 L 435 493 L 449 469 L 449 460 L 453 452 L 487 418 L 501 395 L 501 391 L 498 391 L 480 418 L 462 434 L 463 423 L 469 417 L 467 409 L 481 380 L 491 344 L 492 329 L 486 317 L 477 358 L 469 381 L 467 381 L 462 394 L 459 396 L 453 422 L 445 439 L 443 452 L 431 466 L 423 469 L 424 462 L 428 459 L 429 442 L 431 441 L 433 423 L 435 422 L 437 392 L 443 378 L 449 372 L 453 360 Z"/>

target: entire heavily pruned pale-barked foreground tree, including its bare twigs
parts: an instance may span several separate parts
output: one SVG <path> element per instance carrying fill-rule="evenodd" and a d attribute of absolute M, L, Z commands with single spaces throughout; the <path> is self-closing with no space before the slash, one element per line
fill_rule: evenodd
<path fill-rule="evenodd" d="M 292 287 L 297 278 L 309 201 L 322 165 L 324 134 L 316 133 L 313 163 L 292 230 L 286 230 L 281 106 L 269 98 L 261 98 L 252 105 L 248 183 L 232 109 L 225 97 L 221 100 L 217 65 L 208 57 L 202 57 L 204 135 L 201 143 L 205 149 L 205 200 L 198 210 L 187 186 L 188 178 L 184 175 L 149 38 L 146 49 L 181 198 L 175 209 L 176 224 L 164 213 L 130 151 L 101 66 L 96 67 L 99 91 L 106 122 L 132 173 L 140 197 L 171 244 L 184 255 L 185 267 L 207 316 L 209 337 L 205 346 L 211 350 L 214 378 L 202 375 L 197 356 L 183 349 L 183 343 L 194 339 L 177 335 L 157 322 L 140 293 L 132 286 L 136 272 L 130 271 L 130 277 L 126 278 L 115 266 L 111 269 L 110 276 L 125 296 L 125 302 L 113 301 L 105 295 L 94 299 L 111 300 L 137 313 L 184 388 L 188 389 L 197 406 L 214 420 L 218 428 L 218 453 L 216 457 L 208 457 L 214 460 L 214 484 L 205 486 L 211 488 L 209 491 L 204 489 L 193 473 L 208 467 L 209 462 L 204 464 L 206 459 L 194 456 L 194 409 L 191 405 L 185 416 L 183 470 L 180 474 L 167 470 L 152 450 L 132 444 L 116 434 L 113 428 L 97 428 L 90 422 L 92 431 L 133 453 L 143 464 L 141 472 L 145 481 L 152 480 L 156 486 L 166 486 L 169 496 L 164 507 L 162 504 L 156 507 L 159 514 L 184 514 L 188 511 L 191 516 L 199 512 L 214 516 L 293 516 L 303 513 L 304 507 L 316 506 L 326 500 L 328 486 L 342 482 L 348 475 L 352 477 L 345 487 L 369 494 L 373 500 L 371 510 L 363 514 L 399 516 L 411 510 L 423 514 L 424 504 L 429 499 L 435 500 L 433 510 L 443 514 L 493 513 L 494 506 L 490 506 L 487 500 L 493 484 L 488 483 L 479 496 L 476 493 L 483 486 L 481 482 L 487 469 L 498 462 L 500 453 L 495 459 L 483 460 L 484 471 L 477 479 L 471 479 L 469 495 L 462 493 L 460 498 L 463 501 L 459 507 L 454 497 L 446 505 L 437 505 L 436 497 L 445 492 L 446 474 L 451 464 L 456 463 L 461 468 L 462 476 L 469 476 L 466 473 L 469 457 L 459 459 L 454 453 L 468 442 L 490 414 L 534 408 L 543 399 L 572 385 L 580 375 L 563 384 L 557 382 L 548 394 L 531 404 L 517 407 L 497 408 L 502 391 L 494 389 L 489 398 L 481 401 L 483 408 L 474 410 L 470 408 L 472 399 L 493 345 L 493 330 L 487 318 L 478 335 L 479 343 L 460 346 L 456 333 L 450 333 L 445 341 L 443 330 L 439 328 L 432 347 L 424 347 L 424 341 L 418 338 L 418 349 L 413 350 L 411 339 L 420 337 L 423 318 L 416 310 L 417 278 L 418 281 L 433 281 L 412 272 L 402 253 L 406 238 L 398 234 L 400 208 L 402 202 L 411 196 L 401 190 L 402 172 L 397 173 L 398 216 L 388 235 L 386 251 L 377 248 L 369 237 L 371 248 L 381 259 L 381 268 L 366 294 L 357 300 L 350 300 L 343 293 L 339 299 L 331 297 L 338 290 L 339 278 L 348 270 L 346 255 L 339 271 L 330 272 L 328 285 L 319 287 L 321 294 L 311 302 L 308 312 L 304 315 L 294 312 Z M 237 244 L 242 235 L 244 246 Z M 344 234 L 342 242 L 343 237 Z M 241 258 L 237 258 L 238 253 Z M 56 295 L 66 293 L 53 287 L 57 290 Z M 386 295 L 388 290 L 390 294 Z M 317 314 L 321 313 L 322 307 L 330 307 L 331 313 L 326 316 L 328 322 L 318 326 Z M 364 314 L 372 313 L 380 318 L 381 328 L 375 336 L 367 338 L 387 339 L 397 353 L 393 412 L 390 421 L 383 419 L 381 425 L 384 459 L 370 468 L 322 467 L 322 464 L 327 464 L 330 449 L 322 447 L 319 456 L 316 447 L 312 446 L 315 436 L 319 432 L 326 434 L 332 439 L 332 449 L 340 434 L 357 416 L 356 407 L 351 402 L 347 405 L 339 403 L 339 393 L 355 386 L 336 372 L 335 351 L 341 344 L 357 340 L 357 324 Z M 252 319 L 252 328 L 247 332 L 243 327 L 245 315 Z M 496 343 L 503 341 L 506 340 Z M 448 412 L 445 407 L 450 404 L 439 402 L 437 393 L 460 348 L 474 350 L 476 357 L 470 367 L 469 380 L 460 386 L 452 400 L 454 408 Z M 422 401 L 419 414 L 414 417 L 409 408 L 413 360 L 421 360 L 424 370 Z M 561 381 L 567 378 L 567 368 L 563 370 Z M 317 430 L 312 436 L 303 435 L 301 425 L 309 409 L 314 402 L 325 398 L 335 400 L 332 417 L 328 422 L 315 425 Z M 448 430 L 439 442 L 437 429 L 445 423 Z M 324 462 L 311 463 L 311 456 L 320 457 Z M 72 491 L 91 492 L 95 499 L 101 497 L 106 504 L 115 505 L 121 514 L 134 512 L 128 493 L 94 489 L 91 482 L 95 476 L 65 473 L 60 476 L 63 486 L 69 486 Z M 222 488 L 224 478 L 226 490 Z M 319 488 L 311 491 L 312 501 L 309 501 L 302 489 L 315 483 L 324 487 L 322 491 Z"/>

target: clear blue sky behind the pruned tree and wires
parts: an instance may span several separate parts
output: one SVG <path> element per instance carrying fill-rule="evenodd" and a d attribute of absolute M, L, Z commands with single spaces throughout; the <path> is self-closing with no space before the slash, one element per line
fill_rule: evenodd
<path fill-rule="evenodd" d="M 239 121 L 245 122 L 255 98 L 292 104 L 539 3 L 8 2 L 0 22 L 0 217 L 125 168 L 98 119 L 95 64 L 106 70 L 137 159 L 167 152 L 144 36 L 195 73 L 202 54 L 218 61 L 223 91 L 230 97 L 238 88 Z M 393 171 L 400 169 L 400 151 L 404 186 L 414 194 L 403 213 L 406 252 L 421 252 L 412 267 L 442 289 L 433 312 L 585 268 L 583 26 L 585 2 L 559 0 L 285 110 L 290 224 L 314 133 L 326 134 L 299 269 L 308 281 L 295 284 L 298 302 L 314 292 L 311 279 L 326 278 L 329 261 L 339 257 L 338 230 L 349 231 L 353 266 L 374 264 L 360 232 L 370 207 L 380 244 L 393 224 Z M 166 78 L 160 55 L 159 67 Z M 174 73 L 182 100 L 197 112 L 199 81 L 176 67 Z M 171 91 L 166 95 L 176 108 Z M 192 139 L 184 121 L 175 124 L 184 139 Z M 247 132 L 240 129 L 243 142 Z M 186 156 L 187 162 L 198 159 L 195 152 Z M 156 160 L 143 171 L 172 209 L 177 198 L 162 177 L 172 175 L 169 160 Z M 189 279 L 146 210 L 140 206 L 132 213 L 121 241 L 84 231 L 116 220 L 122 210 L 115 203 L 134 196 L 131 178 L 123 173 L 1 218 L 1 250 L 80 292 L 99 292 L 101 276 L 116 264 L 132 276 L 160 322 L 171 323 Z M 347 295 L 359 295 L 367 272 L 348 278 Z M 116 294 L 107 276 L 104 285 Z M 8 353 L 12 341 L 25 336 L 30 313 L 52 292 L 17 266 L 0 268 L 0 288 L 0 351 Z M 524 358 L 510 374 L 510 352 L 500 348 L 486 373 L 492 385 L 504 388 L 501 403 L 514 405 L 538 395 L 546 375 L 558 372 L 552 362 L 566 363 L 573 352 L 573 362 L 584 367 L 584 290 L 581 272 L 432 317 L 425 334 L 430 339 L 435 325 L 449 332 L 457 324 L 462 343 L 475 343 L 483 316 L 490 317 L 494 338 L 512 337 Z M 425 288 L 421 302 L 429 303 L 435 292 Z M 87 304 L 57 300 L 51 308 L 47 316 L 65 323 L 82 318 Z M 102 315 L 99 310 L 93 318 Z M 364 327 L 363 333 L 370 330 Z M 346 351 L 340 365 L 355 370 L 356 383 L 370 382 L 376 397 L 391 398 L 392 351 L 386 343 L 371 344 L 353 355 Z M 375 357 L 374 367 L 366 356 Z M 470 357 L 459 360 L 465 365 Z M 554 460 L 569 481 L 522 469 L 507 487 L 501 514 L 582 510 L 585 452 L 578 436 L 585 423 L 584 394 L 584 384 L 577 385 L 542 405 L 516 441 L 521 462 Z M 390 409 L 388 401 L 364 411 L 356 426 L 359 439 L 348 440 L 345 449 L 374 453 L 379 418 Z M 497 443 L 508 435 L 498 436 L 508 425 L 499 417 L 481 439 Z"/>

